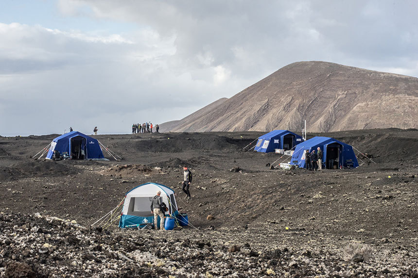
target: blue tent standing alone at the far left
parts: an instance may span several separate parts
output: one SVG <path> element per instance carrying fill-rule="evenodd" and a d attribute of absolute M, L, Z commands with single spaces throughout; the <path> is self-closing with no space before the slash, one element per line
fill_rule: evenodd
<path fill-rule="evenodd" d="M 71 131 L 53 139 L 47 159 L 52 159 L 54 150 L 70 159 L 108 160 L 104 158 L 97 139 L 78 131 Z"/>

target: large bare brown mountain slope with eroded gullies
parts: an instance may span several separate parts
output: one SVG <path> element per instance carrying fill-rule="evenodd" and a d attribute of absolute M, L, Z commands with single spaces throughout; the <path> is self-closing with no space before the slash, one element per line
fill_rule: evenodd
<path fill-rule="evenodd" d="M 327 62 L 284 66 L 221 100 L 170 131 L 297 131 L 305 119 L 311 132 L 418 128 L 417 78 Z"/>

